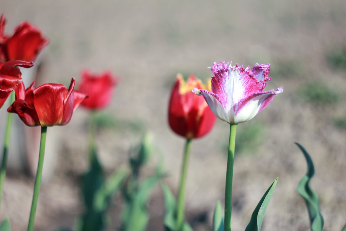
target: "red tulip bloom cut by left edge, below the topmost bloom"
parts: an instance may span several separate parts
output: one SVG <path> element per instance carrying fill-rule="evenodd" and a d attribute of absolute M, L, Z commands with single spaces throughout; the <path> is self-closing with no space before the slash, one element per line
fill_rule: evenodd
<path fill-rule="evenodd" d="M 1 31 L 1 28 L 0 28 Z M 29 68 L 34 63 L 25 61 L 9 61 L 6 63 L 0 62 L 0 108 L 5 103 L 12 90 L 22 81 L 21 72 L 16 66 Z"/>

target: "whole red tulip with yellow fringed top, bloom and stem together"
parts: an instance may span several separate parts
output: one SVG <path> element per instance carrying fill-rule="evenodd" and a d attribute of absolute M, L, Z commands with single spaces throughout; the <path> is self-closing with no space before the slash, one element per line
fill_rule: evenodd
<path fill-rule="evenodd" d="M 209 133 L 216 121 L 206 101 L 191 92 L 193 88 L 209 89 L 210 82 L 203 85 L 194 75 L 190 75 L 185 82 L 182 75 L 178 74 L 172 88 L 168 112 L 172 130 L 186 138 L 176 209 L 176 227 L 179 231 L 184 222 L 185 184 L 191 140 Z"/>

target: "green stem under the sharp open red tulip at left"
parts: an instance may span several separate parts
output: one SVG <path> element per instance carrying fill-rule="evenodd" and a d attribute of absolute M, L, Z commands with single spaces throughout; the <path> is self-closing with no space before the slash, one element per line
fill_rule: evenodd
<path fill-rule="evenodd" d="M 40 152 L 39 152 L 39 157 L 38 157 L 37 173 L 36 173 L 36 179 L 35 179 L 33 202 L 31 204 L 31 210 L 30 210 L 28 231 L 32 231 L 34 228 L 34 220 L 35 220 L 35 213 L 36 213 L 36 207 L 37 207 L 37 201 L 38 201 L 38 193 L 40 190 L 41 178 L 42 178 L 44 150 L 45 150 L 45 146 L 46 146 L 46 135 L 47 135 L 47 127 L 41 127 Z"/>

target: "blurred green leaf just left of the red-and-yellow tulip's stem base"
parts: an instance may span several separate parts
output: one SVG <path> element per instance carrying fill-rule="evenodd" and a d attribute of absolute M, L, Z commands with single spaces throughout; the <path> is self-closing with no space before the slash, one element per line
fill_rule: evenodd
<path fill-rule="evenodd" d="M 161 184 L 163 197 L 165 201 L 165 215 L 163 217 L 163 224 L 165 226 L 165 231 L 175 231 L 176 230 L 176 204 L 175 198 L 171 189 L 167 184 Z"/>

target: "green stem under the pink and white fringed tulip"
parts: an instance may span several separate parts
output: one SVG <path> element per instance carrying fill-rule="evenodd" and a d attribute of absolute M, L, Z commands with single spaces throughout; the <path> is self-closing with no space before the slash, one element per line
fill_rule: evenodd
<path fill-rule="evenodd" d="M 232 213 L 232 184 L 233 184 L 233 163 L 234 147 L 236 141 L 237 125 L 231 124 L 229 131 L 229 146 L 226 172 L 226 190 L 225 190 L 225 231 L 231 231 L 231 213 Z"/>

